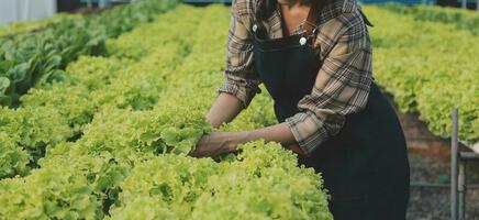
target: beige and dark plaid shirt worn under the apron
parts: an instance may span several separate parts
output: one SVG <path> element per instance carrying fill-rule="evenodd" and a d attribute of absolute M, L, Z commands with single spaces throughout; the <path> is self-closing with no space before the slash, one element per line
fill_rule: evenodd
<path fill-rule="evenodd" d="M 259 92 L 253 63 L 252 26 L 256 0 L 236 0 L 229 32 L 225 82 L 220 92 L 234 95 L 247 107 Z M 345 116 L 365 108 L 371 77 L 371 43 L 355 0 L 333 0 L 319 14 L 314 51 L 322 66 L 311 94 L 286 120 L 299 146 L 311 154 L 343 128 Z M 270 38 L 282 37 L 280 7 L 264 23 Z M 301 33 L 302 23 L 294 34 Z"/>

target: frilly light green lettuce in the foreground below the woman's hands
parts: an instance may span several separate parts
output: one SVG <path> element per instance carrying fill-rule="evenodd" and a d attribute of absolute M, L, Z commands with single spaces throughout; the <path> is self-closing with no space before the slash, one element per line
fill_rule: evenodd
<path fill-rule="evenodd" d="M 321 178 L 272 143 L 248 143 L 220 164 L 163 155 L 120 187 L 111 219 L 332 219 Z"/>

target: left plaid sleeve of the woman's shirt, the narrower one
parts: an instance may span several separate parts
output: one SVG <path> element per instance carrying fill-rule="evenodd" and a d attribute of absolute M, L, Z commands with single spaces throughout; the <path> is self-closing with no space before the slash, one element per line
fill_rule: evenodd
<path fill-rule="evenodd" d="M 249 1 L 236 1 L 232 8 L 226 51 L 225 80 L 219 92 L 238 98 L 246 108 L 256 94 L 260 92 L 260 80 L 253 64 Z"/>

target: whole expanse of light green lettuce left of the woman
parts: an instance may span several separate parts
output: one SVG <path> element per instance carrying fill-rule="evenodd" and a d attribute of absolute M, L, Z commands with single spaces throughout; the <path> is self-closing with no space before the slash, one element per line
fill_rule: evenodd
<path fill-rule="evenodd" d="M 214 130 L 204 113 L 222 82 L 229 18 L 225 7 L 179 6 L 109 40 L 110 56 L 82 56 L 62 82 L 1 109 L 0 216 L 332 219 L 321 176 L 279 144 L 186 156 Z M 274 121 L 264 92 L 221 130 Z"/>

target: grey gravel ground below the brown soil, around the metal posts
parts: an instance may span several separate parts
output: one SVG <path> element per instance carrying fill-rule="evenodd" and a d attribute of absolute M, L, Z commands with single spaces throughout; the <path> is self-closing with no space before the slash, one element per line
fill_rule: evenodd
<path fill-rule="evenodd" d="M 421 187 L 416 183 L 448 185 L 449 161 L 410 152 L 411 197 L 408 210 L 410 220 L 450 219 L 450 189 Z M 467 178 L 470 185 L 479 185 L 479 163 L 469 163 Z M 479 220 L 479 187 L 467 191 L 466 219 Z"/>

